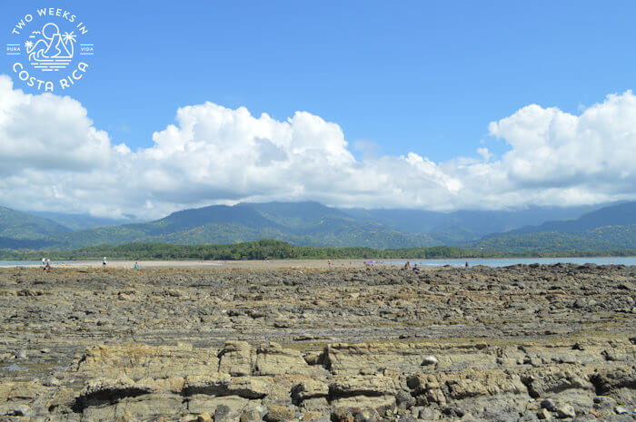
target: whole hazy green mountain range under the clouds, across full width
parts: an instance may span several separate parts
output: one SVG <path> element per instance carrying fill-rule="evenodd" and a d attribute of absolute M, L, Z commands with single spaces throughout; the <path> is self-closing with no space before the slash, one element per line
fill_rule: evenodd
<path fill-rule="evenodd" d="M 102 244 L 224 244 L 284 240 L 303 246 L 482 250 L 636 249 L 636 202 L 513 211 L 338 209 L 318 202 L 239 203 L 127 222 L 0 207 L 0 249 L 68 250 Z"/>

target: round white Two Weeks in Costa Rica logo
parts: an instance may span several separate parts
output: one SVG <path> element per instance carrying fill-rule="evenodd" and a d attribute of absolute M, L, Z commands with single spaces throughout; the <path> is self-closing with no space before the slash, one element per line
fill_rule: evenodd
<path fill-rule="evenodd" d="M 88 28 L 65 9 L 48 7 L 20 18 L 6 55 L 15 76 L 38 91 L 63 91 L 84 77 L 94 44 Z"/>

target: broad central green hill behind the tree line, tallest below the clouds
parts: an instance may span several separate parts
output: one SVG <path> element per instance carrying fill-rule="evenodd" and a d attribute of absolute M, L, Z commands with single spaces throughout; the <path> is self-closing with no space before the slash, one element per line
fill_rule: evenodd
<path fill-rule="evenodd" d="M 381 222 L 359 220 L 317 202 L 241 203 L 174 212 L 147 223 L 64 231 L 43 247 L 70 250 L 92 245 L 156 242 L 180 245 L 283 240 L 296 245 L 410 248 L 439 245 L 427 234 L 407 234 Z M 3 245 L 0 248 L 10 248 Z"/>

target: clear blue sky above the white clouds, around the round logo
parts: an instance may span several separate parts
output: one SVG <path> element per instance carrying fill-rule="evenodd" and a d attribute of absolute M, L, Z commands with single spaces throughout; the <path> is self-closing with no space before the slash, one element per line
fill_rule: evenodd
<path fill-rule="evenodd" d="M 41 2 L 3 2 L 0 26 Z M 52 4 L 53 5 L 53 4 Z M 114 142 L 149 146 L 179 106 L 285 119 L 433 161 L 471 154 L 488 123 L 538 103 L 577 113 L 631 88 L 633 2 L 64 2 L 93 68 L 70 94 Z M 3 40 L 5 42 L 5 40 Z M 9 74 L 8 64 L 3 72 Z"/>

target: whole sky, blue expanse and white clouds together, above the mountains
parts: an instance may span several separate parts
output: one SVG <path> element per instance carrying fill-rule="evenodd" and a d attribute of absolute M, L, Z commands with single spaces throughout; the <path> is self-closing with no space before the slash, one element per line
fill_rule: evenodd
<path fill-rule="evenodd" d="M 41 6 L 3 0 L 0 41 Z M 25 110 L 15 96 L 37 92 L 8 60 L 0 67 L 0 88 L 2 74 L 14 79 L 0 112 L 45 122 L 0 122 L 15 147 L 0 148 L 0 164 L 4 153 L 5 168 L 23 169 L 0 172 L 0 195 L 16 198 L 7 205 L 160 215 L 235 201 L 451 210 L 636 199 L 636 168 L 623 162 L 636 154 L 633 2 L 47 6 L 88 25 L 95 55 L 65 92 L 77 103 L 37 97 L 64 107 L 44 117 L 49 108 Z M 41 146 L 64 153 L 33 161 Z M 317 182 L 325 173 L 333 179 Z M 85 181 L 122 184 L 115 174 L 134 195 L 87 205 Z M 15 194 L 37 181 L 55 182 L 50 201 Z"/>

